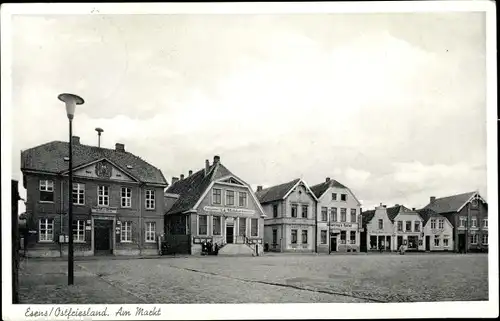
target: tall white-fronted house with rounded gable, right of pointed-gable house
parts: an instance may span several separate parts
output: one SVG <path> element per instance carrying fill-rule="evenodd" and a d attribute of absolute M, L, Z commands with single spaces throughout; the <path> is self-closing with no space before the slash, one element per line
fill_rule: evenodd
<path fill-rule="evenodd" d="M 354 193 L 329 177 L 311 190 L 318 199 L 318 252 L 359 252 L 361 203 Z"/>

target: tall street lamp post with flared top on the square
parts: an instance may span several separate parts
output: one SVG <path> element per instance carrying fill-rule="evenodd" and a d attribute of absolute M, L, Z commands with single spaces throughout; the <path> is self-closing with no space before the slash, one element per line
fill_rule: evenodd
<path fill-rule="evenodd" d="M 69 184 L 68 184 L 68 285 L 74 281 L 73 268 L 73 117 L 76 105 L 84 103 L 83 99 L 73 94 L 60 94 L 57 97 L 66 104 L 66 114 L 69 120 Z"/>

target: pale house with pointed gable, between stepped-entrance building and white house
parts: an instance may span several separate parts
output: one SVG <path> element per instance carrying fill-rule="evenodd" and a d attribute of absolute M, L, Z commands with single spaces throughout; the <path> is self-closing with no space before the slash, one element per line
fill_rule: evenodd
<path fill-rule="evenodd" d="M 264 242 L 274 252 L 316 250 L 316 203 L 318 199 L 302 179 L 262 189 L 256 196 L 267 217 Z"/>

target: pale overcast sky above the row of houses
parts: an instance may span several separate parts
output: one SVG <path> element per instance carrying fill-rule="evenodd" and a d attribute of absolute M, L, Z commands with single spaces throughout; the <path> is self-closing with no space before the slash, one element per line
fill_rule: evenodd
<path fill-rule="evenodd" d="M 15 16 L 12 174 L 74 134 L 172 176 L 334 178 L 363 207 L 486 195 L 484 13 Z M 21 184 L 22 189 L 22 184 Z M 25 195 L 22 190 L 21 194 Z"/>

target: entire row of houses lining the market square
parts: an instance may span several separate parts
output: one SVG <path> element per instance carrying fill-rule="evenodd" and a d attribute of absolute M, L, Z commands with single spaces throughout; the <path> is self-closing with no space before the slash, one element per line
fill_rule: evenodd
<path fill-rule="evenodd" d="M 219 156 L 172 177 L 117 143 L 106 149 L 72 138 L 71 224 L 75 255 L 221 254 L 487 249 L 487 203 L 477 192 L 363 211 L 350 188 L 326 178 L 253 191 Z M 68 242 L 68 148 L 53 141 L 21 152 L 29 256 L 64 256 Z"/>

